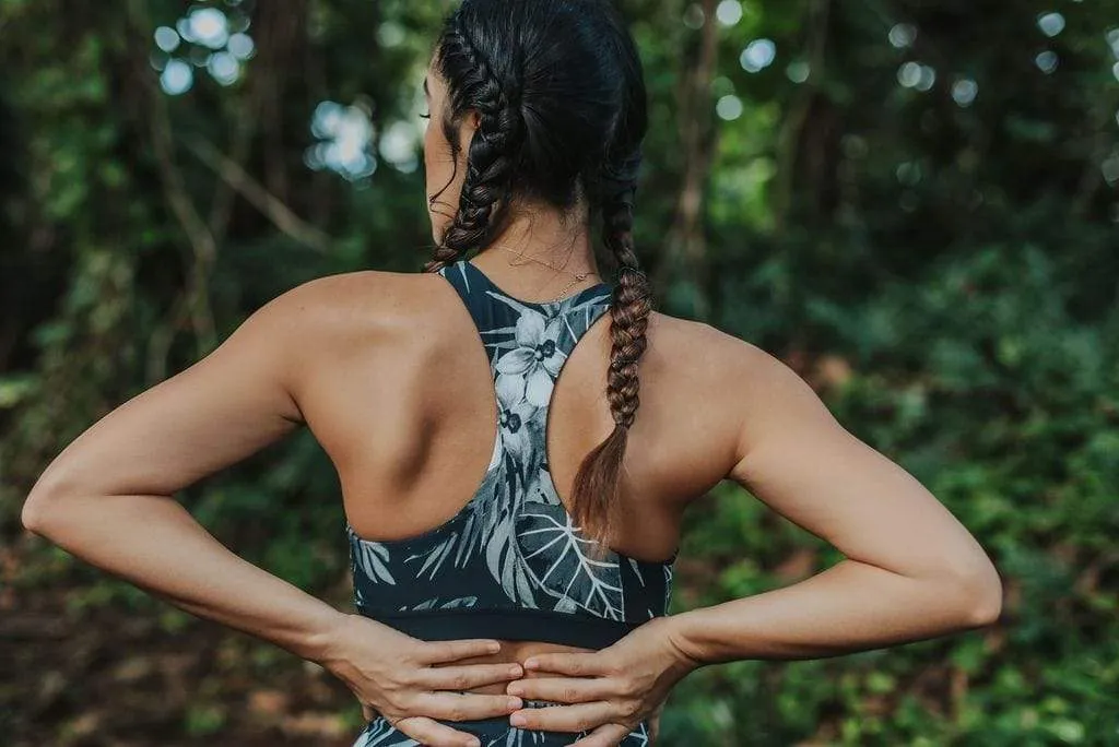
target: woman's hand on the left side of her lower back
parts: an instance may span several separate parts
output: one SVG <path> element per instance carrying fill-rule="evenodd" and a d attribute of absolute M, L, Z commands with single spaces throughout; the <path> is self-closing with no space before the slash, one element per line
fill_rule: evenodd
<path fill-rule="evenodd" d="M 319 660 L 361 703 L 397 730 L 432 747 L 478 747 L 476 737 L 435 719 L 508 716 L 521 707 L 507 694 L 461 692 L 524 677 L 517 663 L 462 663 L 497 653 L 493 640 L 421 641 L 357 614 L 339 613 Z"/>

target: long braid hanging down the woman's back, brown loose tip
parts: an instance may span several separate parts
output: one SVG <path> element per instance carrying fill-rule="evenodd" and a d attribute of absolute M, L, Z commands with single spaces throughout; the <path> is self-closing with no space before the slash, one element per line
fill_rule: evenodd
<path fill-rule="evenodd" d="M 602 238 L 618 263 L 618 283 L 610 302 L 610 367 L 606 370 L 606 401 L 614 419 L 613 432 L 580 465 L 575 475 L 572 514 L 575 522 L 599 541 L 605 538 L 617 504 L 621 464 L 640 404 L 638 362 L 647 347 L 646 329 L 652 311 L 649 280 L 638 265 L 633 245 L 633 202 L 640 150 L 608 164 L 602 174 Z"/>

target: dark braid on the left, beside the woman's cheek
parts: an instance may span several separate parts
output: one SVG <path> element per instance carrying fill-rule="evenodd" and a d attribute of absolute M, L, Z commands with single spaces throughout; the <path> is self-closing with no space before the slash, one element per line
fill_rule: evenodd
<path fill-rule="evenodd" d="M 455 13 L 444 31 L 440 64 L 467 70 L 463 82 L 452 93 L 450 111 L 467 108 L 479 113 L 478 130 L 467 153 L 467 176 L 459 197 L 459 209 L 443 239 L 435 247 L 424 272 L 435 272 L 457 262 L 472 249 L 485 246 L 505 218 L 513 191 L 515 153 L 519 150 L 524 121 L 520 116 L 519 82 L 502 82 L 462 28 Z M 453 119 L 444 120 L 448 141 L 458 148 Z"/>

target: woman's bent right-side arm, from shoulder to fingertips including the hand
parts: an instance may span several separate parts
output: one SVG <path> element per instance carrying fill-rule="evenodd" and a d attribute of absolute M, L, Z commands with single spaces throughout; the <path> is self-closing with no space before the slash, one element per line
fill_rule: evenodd
<path fill-rule="evenodd" d="M 618 744 L 671 687 L 704 664 L 816 659 L 993 623 L 1002 583 L 959 521 L 897 464 L 848 433 L 805 381 L 740 343 L 727 397 L 741 434 L 728 477 L 844 554 L 806 580 L 642 625 L 587 654 L 525 662 L 567 678 L 510 692 L 580 703 L 526 709 L 532 728 L 583 730 L 580 747 Z"/>

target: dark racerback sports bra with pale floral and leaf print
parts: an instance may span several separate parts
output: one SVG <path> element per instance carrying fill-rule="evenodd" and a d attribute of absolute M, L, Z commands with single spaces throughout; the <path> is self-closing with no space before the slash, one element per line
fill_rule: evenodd
<path fill-rule="evenodd" d="M 548 406 L 556 377 L 609 310 L 599 283 L 561 301 L 504 293 L 460 261 L 440 271 L 473 318 L 497 390 L 498 433 L 486 476 L 451 519 L 419 536 L 358 537 L 349 523 L 358 612 L 423 640 L 497 637 L 605 647 L 667 613 L 676 555 L 666 562 L 612 550 L 572 523 L 548 472 Z"/>

